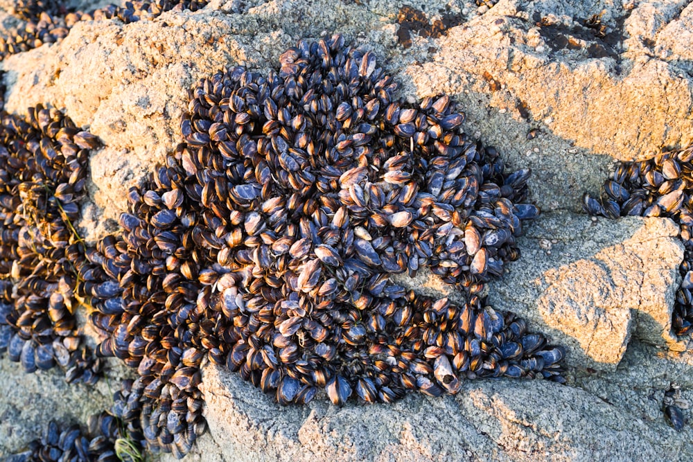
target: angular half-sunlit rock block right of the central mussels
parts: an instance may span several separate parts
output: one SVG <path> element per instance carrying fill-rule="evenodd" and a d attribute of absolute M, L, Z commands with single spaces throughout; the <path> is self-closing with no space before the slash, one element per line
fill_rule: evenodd
<path fill-rule="evenodd" d="M 581 368 L 615 368 L 631 332 L 681 350 L 671 334 L 683 260 L 676 236 L 668 219 L 544 215 L 520 238 L 520 260 L 489 284 L 488 303 L 567 346 Z"/>

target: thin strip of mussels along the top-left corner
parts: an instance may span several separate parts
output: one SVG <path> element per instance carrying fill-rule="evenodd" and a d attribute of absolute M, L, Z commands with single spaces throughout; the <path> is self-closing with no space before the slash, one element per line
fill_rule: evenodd
<path fill-rule="evenodd" d="M 42 44 L 58 42 L 78 21 L 117 18 L 128 24 L 157 17 L 168 10 L 199 10 L 209 0 L 133 0 L 124 1 L 123 6 L 111 4 L 89 12 L 71 10 L 66 3 L 60 0 L 18 0 L 13 12 L 26 23 L 14 37 L 0 38 L 0 60 Z"/>

